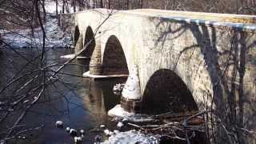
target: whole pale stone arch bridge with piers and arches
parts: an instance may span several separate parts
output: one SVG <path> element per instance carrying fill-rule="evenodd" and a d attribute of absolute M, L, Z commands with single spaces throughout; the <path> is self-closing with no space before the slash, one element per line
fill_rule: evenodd
<path fill-rule="evenodd" d="M 95 9 L 58 18 L 75 53 L 90 57 L 87 75 L 130 74 L 124 110 L 210 110 L 242 142 L 256 142 L 246 132 L 256 128 L 255 16 Z"/>

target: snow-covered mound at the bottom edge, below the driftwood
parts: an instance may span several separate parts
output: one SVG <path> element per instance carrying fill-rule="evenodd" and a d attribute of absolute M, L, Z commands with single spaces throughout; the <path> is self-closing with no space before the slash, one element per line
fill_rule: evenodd
<path fill-rule="evenodd" d="M 158 144 L 159 138 L 152 135 L 142 134 L 136 130 L 130 130 L 126 132 L 120 132 L 112 135 L 108 140 L 102 142 L 102 144 Z"/>

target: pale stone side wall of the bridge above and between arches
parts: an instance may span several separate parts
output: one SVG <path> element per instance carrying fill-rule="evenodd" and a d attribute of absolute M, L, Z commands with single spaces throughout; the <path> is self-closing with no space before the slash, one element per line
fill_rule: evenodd
<path fill-rule="evenodd" d="M 108 18 L 109 14 L 101 9 L 75 14 L 75 26 L 83 39 L 87 26 L 96 33 L 95 39 L 100 38 L 102 61 L 106 42 L 114 35 L 128 69 L 138 66 L 142 94 L 156 71 L 171 70 L 186 85 L 199 110 L 209 110 L 213 104 L 218 117 L 214 119 L 223 124 L 216 129 L 222 134 L 220 143 L 230 140 L 221 126 L 235 130 L 235 138 L 242 143 L 256 143 L 254 135 L 244 130 L 256 129 L 256 26 L 233 21 L 246 16 L 198 13 L 198 18 L 206 18 L 202 20 L 196 13 L 178 15 L 164 10 L 114 11 Z"/>

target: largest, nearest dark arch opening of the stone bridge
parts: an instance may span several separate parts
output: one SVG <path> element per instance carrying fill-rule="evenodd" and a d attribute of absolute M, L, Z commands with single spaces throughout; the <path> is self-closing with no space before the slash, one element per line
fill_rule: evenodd
<path fill-rule="evenodd" d="M 157 70 L 146 84 L 142 113 L 184 112 L 198 110 L 190 90 L 172 70 Z"/>

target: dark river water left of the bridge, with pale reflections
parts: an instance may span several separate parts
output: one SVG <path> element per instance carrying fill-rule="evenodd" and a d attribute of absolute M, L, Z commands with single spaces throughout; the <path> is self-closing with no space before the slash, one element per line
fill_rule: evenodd
<path fill-rule="evenodd" d="M 46 52 L 46 65 L 50 66 L 56 63 L 65 62 L 60 58 L 63 54 L 72 54 L 72 50 L 68 49 L 52 49 Z M 37 50 L 22 49 L 14 52 L 7 50 L 1 54 L 0 58 L 0 74 L 1 88 L 6 86 L 14 74 L 26 65 L 27 60 L 35 58 L 38 55 Z M 93 143 L 94 136 L 101 134 L 95 128 L 105 124 L 107 127 L 114 127 L 115 123 L 110 121 L 107 116 L 107 111 L 120 102 L 120 98 L 113 94 L 112 88 L 115 83 L 125 82 L 126 79 L 110 79 L 105 81 L 93 81 L 89 78 L 80 78 L 83 72 L 88 70 L 89 61 L 76 60 L 71 62 L 72 65 L 66 66 L 58 78 L 58 82 L 54 82 L 47 86 L 46 91 L 39 102 L 34 105 L 26 117 L 22 120 L 16 133 L 20 130 L 27 130 L 42 126 L 38 130 L 30 130 L 24 133 L 15 135 L 9 143 L 73 143 L 73 138 L 66 133 L 65 130 L 60 130 L 55 127 L 55 122 L 61 120 L 65 127 L 70 126 L 77 130 L 86 130 L 85 143 Z M 32 64 L 26 66 L 22 73 L 38 69 L 39 63 L 34 60 Z M 58 66 L 53 66 L 52 70 L 57 70 Z M 65 73 L 65 74 L 63 74 Z M 67 74 L 71 74 L 67 75 Z M 74 76 L 77 75 L 77 76 Z M 26 82 L 32 75 L 22 78 L 22 82 Z M 6 90 L 0 98 L 8 98 L 13 93 L 12 90 L 17 89 L 22 82 L 16 83 Z M 30 99 L 31 101 L 31 99 Z M 12 126 L 18 115 L 21 113 L 18 110 L 24 109 L 24 106 L 17 106 L 13 113 L 1 122 L 1 138 L 5 134 L 8 127 Z M 14 131 L 15 132 L 15 131 Z M 14 133 L 15 134 L 15 133 Z M 18 136 L 25 136 L 22 140 Z"/>

